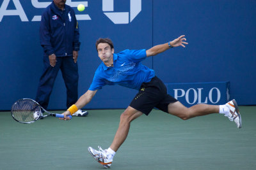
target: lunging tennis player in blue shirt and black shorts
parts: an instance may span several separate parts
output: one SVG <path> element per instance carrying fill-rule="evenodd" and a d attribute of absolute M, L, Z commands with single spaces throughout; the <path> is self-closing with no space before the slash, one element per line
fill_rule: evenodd
<path fill-rule="evenodd" d="M 141 64 L 141 61 L 147 57 L 157 55 L 176 46 L 185 47 L 185 45 L 188 45 L 188 43 L 183 35 L 168 43 L 153 46 L 148 50 L 124 50 L 120 53 L 114 53 L 111 39 L 100 38 L 97 40 L 96 48 L 102 63 L 95 71 L 89 90 L 78 99 L 76 104 L 70 106 L 63 113 L 65 117 L 63 119 L 69 119 L 67 115 L 72 115 L 88 104 L 97 90 L 102 89 L 104 85 L 122 85 L 139 90 L 128 108 L 120 116 L 118 130 L 109 148 L 106 150 L 102 150 L 100 146 L 98 146 L 99 150 L 92 147 L 88 148 L 92 157 L 104 167 L 109 168 L 111 166 L 116 151 L 127 138 L 132 120 L 143 114 L 148 115 L 154 107 L 183 120 L 211 113 L 222 113 L 231 121 L 234 120 L 237 127 L 241 128 L 241 115 L 235 100 L 220 106 L 196 104 L 186 108 L 177 99 L 166 93 L 164 83 L 157 78 L 154 70 Z"/>

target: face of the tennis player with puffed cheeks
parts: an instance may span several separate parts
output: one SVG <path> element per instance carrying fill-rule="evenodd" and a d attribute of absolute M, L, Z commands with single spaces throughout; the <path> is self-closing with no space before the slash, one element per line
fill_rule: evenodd
<path fill-rule="evenodd" d="M 111 46 L 108 43 L 99 43 L 97 50 L 100 60 L 102 60 L 104 64 L 113 63 L 114 48 L 111 49 Z"/>

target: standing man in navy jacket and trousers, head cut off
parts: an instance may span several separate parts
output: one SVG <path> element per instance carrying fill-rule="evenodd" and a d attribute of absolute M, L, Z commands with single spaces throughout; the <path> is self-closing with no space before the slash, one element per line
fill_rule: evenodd
<path fill-rule="evenodd" d="M 40 43 L 44 48 L 44 72 L 40 78 L 36 101 L 47 109 L 52 87 L 59 69 L 67 88 L 67 108 L 78 98 L 79 27 L 74 10 L 66 0 L 53 0 L 47 6 L 40 23 Z M 77 110 L 76 116 L 87 111 Z"/>

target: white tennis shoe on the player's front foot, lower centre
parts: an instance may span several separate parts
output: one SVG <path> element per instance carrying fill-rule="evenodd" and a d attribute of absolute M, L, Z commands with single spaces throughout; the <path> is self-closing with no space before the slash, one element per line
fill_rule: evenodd
<path fill-rule="evenodd" d="M 102 150 L 100 146 L 98 146 L 99 150 L 95 150 L 92 147 L 88 148 L 88 151 L 92 155 L 92 157 L 97 160 L 102 166 L 105 168 L 109 168 L 112 164 L 113 159 L 109 159 L 108 155 L 109 153 L 106 150 Z"/>

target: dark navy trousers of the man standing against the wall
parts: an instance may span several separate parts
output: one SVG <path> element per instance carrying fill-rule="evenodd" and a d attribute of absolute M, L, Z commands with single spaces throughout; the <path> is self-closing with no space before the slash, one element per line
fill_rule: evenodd
<path fill-rule="evenodd" d="M 76 103 L 78 98 L 78 67 L 77 63 L 74 63 L 73 56 L 57 57 L 56 60 L 56 66 L 52 67 L 49 63 L 49 57 L 44 56 L 44 71 L 39 81 L 35 100 L 45 109 L 47 109 L 52 87 L 59 70 L 61 70 L 67 88 L 67 108 Z"/>

